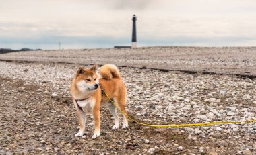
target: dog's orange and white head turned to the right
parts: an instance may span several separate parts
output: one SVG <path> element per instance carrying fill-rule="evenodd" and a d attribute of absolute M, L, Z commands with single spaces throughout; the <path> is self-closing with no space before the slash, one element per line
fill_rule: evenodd
<path fill-rule="evenodd" d="M 99 82 L 96 68 L 96 64 L 92 68 L 79 66 L 75 76 L 75 83 L 80 91 L 95 91 L 98 88 Z"/>

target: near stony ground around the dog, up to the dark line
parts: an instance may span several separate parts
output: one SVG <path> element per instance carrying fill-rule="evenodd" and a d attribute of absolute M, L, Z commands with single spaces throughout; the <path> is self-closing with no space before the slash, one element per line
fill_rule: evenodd
<path fill-rule="evenodd" d="M 154 128 L 129 121 L 111 130 L 101 109 L 101 136 L 75 138 L 78 120 L 69 85 L 77 64 L 0 62 L 0 154 L 256 154 L 256 123 Z M 119 67 L 127 112 L 144 123 L 256 119 L 255 79 Z M 55 95 L 56 94 L 56 95 Z"/>

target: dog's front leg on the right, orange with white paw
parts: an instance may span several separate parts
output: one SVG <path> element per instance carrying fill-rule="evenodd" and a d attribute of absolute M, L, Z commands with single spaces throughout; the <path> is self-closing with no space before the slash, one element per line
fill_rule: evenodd
<path fill-rule="evenodd" d="M 92 115 L 94 117 L 94 127 L 95 127 L 94 135 L 92 136 L 92 139 L 95 139 L 98 136 L 100 136 L 100 107 L 99 106 L 95 106 L 93 108 Z"/>

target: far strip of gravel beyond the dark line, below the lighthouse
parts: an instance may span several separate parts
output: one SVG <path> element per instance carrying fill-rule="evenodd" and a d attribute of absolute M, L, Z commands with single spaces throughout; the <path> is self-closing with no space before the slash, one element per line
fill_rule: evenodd
<path fill-rule="evenodd" d="M 13 52 L 0 60 L 108 64 L 256 76 L 256 47 L 146 47 Z"/>

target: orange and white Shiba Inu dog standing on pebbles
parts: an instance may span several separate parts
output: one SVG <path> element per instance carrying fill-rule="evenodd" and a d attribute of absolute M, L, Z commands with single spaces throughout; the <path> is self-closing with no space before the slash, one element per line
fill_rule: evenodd
<path fill-rule="evenodd" d="M 86 114 L 90 112 L 92 112 L 94 119 L 94 134 L 92 138 L 95 139 L 100 136 L 100 107 L 102 105 L 107 105 L 110 113 L 114 116 L 112 129 L 119 128 L 117 108 L 110 103 L 108 97 L 126 114 L 127 89 L 117 66 L 105 64 L 99 69 L 99 74 L 96 73 L 96 68 L 96 64 L 92 68 L 79 66 L 71 83 L 70 91 L 80 125 L 79 132 L 75 134 L 75 137 L 84 135 Z M 104 95 L 103 90 L 108 97 Z M 127 127 L 127 116 L 123 114 L 123 128 Z"/>

